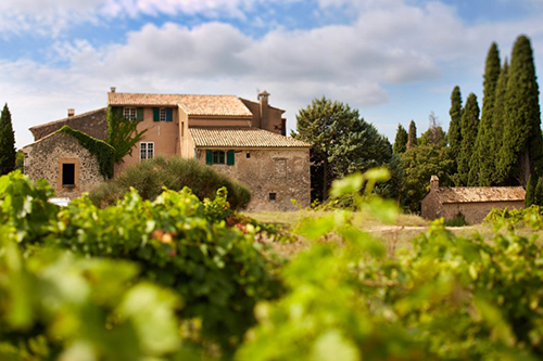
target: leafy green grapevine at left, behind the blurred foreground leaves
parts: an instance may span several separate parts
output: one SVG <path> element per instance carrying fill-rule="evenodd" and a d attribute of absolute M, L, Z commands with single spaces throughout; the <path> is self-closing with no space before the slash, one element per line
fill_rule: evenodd
<path fill-rule="evenodd" d="M 254 324 L 255 302 L 278 289 L 255 242 L 257 227 L 227 227 L 224 189 L 204 202 L 187 188 L 153 202 L 131 190 L 105 209 L 86 197 L 59 208 L 47 203 L 50 195 L 49 184 L 34 185 L 20 172 L 0 178 L 0 220 L 26 254 L 60 248 L 136 261 L 142 279 L 181 297 L 180 318 L 199 343 L 229 352 Z"/>

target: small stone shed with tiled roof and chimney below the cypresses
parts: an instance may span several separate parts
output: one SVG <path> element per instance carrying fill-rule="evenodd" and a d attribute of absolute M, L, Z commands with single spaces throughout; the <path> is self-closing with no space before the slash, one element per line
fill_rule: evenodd
<path fill-rule="evenodd" d="M 522 186 L 440 188 L 439 178 L 432 176 L 430 191 L 420 201 L 421 215 L 426 219 L 450 220 L 462 214 L 468 223 L 475 224 L 494 208 L 523 208 L 525 195 Z"/>

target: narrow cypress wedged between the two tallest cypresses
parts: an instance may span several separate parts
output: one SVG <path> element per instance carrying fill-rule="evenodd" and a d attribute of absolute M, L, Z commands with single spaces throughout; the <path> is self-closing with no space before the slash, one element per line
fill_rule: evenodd
<path fill-rule="evenodd" d="M 504 141 L 504 117 L 505 117 L 505 101 L 507 96 L 507 79 L 508 79 L 509 66 L 507 59 L 504 62 L 504 66 L 500 72 L 500 77 L 497 78 L 496 94 L 494 102 L 494 114 L 493 114 L 493 130 L 492 130 L 492 142 L 489 147 L 494 155 L 494 171 L 492 172 L 492 183 L 502 185 L 504 184 L 504 178 L 498 171 L 500 168 L 500 152 L 502 150 L 502 144 Z"/>

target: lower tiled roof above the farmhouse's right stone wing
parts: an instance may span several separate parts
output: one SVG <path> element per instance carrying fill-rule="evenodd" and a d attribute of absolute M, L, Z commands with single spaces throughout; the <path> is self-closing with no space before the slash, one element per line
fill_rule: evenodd
<path fill-rule="evenodd" d="M 250 127 L 189 128 L 194 145 L 200 147 L 310 147 L 311 144 Z"/>

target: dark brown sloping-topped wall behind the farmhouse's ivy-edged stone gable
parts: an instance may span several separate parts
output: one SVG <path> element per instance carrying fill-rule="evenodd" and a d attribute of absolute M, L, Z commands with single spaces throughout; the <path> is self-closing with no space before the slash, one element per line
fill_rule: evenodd
<path fill-rule="evenodd" d="M 108 109 L 103 107 L 92 112 L 83 113 L 80 115 L 74 115 L 61 120 L 31 127 L 30 131 L 34 134 L 34 140 L 38 141 L 53 131 L 61 129 L 63 126 L 68 126 L 70 128 L 83 131 L 92 138 L 105 141 L 108 139 L 106 111 Z"/>

